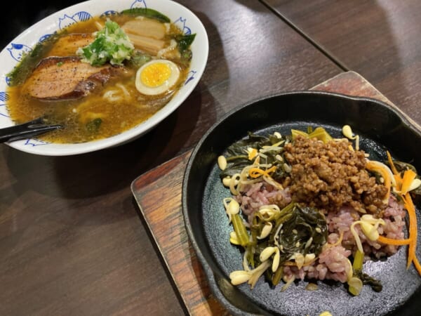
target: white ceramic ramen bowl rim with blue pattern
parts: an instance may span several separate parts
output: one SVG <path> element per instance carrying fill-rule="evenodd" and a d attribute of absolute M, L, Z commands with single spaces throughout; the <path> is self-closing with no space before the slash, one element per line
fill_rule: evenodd
<path fill-rule="evenodd" d="M 0 129 L 17 123 L 11 116 L 8 101 L 8 87 L 11 85 L 11 72 L 20 64 L 25 55 L 31 53 L 37 44 L 77 22 L 83 22 L 100 15 L 112 15 L 126 9 L 140 8 L 158 11 L 171 20 L 182 34 L 196 34 L 190 46 L 192 58 L 187 69 L 187 76 L 180 84 L 180 89 L 166 105 L 145 121 L 131 129 L 114 136 L 80 143 L 55 143 L 42 137 L 15 140 L 6 143 L 10 147 L 31 154 L 46 156 L 66 156 L 83 154 L 114 147 L 142 136 L 173 113 L 192 93 L 199 83 L 208 59 L 208 36 L 203 24 L 192 11 L 170 0 L 90 0 L 69 6 L 37 22 L 13 39 L 0 53 Z M 20 122 L 22 123 L 22 122 Z"/>

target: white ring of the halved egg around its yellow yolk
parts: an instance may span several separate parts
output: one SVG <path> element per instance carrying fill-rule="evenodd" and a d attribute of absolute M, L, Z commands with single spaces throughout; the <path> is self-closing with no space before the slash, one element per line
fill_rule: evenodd
<path fill-rule="evenodd" d="M 142 72 L 149 67 L 150 65 L 153 65 L 154 63 L 163 63 L 168 65 L 170 68 L 171 74 L 166 81 L 163 81 L 163 83 L 159 86 L 147 86 L 142 81 Z M 171 60 L 165 60 L 165 59 L 158 59 L 158 60 L 151 60 L 147 62 L 145 65 L 140 67 L 138 69 L 138 72 L 136 72 L 136 79 L 135 79 L 135 86 L 136 89 L 142 94 L 145 94 L 147 96 L 156 96 L 161 93 L 165 93 L 166 91 L 173 88 L 173 86 L 177 83 L 178 79 L 180 78 L 180 69 L 178 68 L 178 65 L 176 65 Z"/>

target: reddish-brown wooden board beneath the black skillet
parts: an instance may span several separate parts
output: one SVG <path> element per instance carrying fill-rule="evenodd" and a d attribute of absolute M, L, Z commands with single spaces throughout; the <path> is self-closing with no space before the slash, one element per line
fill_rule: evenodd
<path fill-rule="evenodd" d="M 312 89 L 376 98 L 394 106 L 356 72 L 342 72 Z M 182 216 L 182 180 L 190 154 L 185 152 L 142 174 L 131 188 L 187 312 L 192 316 L 226 315 L 208 287 Z"/>

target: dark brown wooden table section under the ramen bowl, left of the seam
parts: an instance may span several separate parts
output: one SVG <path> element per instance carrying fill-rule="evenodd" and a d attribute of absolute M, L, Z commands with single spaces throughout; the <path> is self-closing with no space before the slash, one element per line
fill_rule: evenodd
<path fill-rule="evenodd" d="M 2 22 L 4 46 L 36 20 L 78 1 L 57 2 L 13 7 Z M 343 71 L 267 4 L 180 3 L 206 27 L 208 65 L 192 95 L 154 130 L 121 147 L 72 157 L 0 145 L 0 315 L 185 314 L 133 199 L 132 181 L 191 150 L 236 105 L 308 89 Z M 380 72 L 368 63 L 361 67 Z M 382 80 L 393 79 L 394 73 L 383 74 Z M 388 97 L 417 98 L 415 88 L 410 91 L 401 96 L 391 89 Z"/>

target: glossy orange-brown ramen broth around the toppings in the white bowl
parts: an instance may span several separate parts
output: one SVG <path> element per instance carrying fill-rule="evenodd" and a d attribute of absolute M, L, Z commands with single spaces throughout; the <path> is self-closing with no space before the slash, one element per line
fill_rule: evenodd
<path fill-rule="evenodd" d="M 134 17 L 122 14 L 109 18 L 121 26 Z M 58 41 L 55 41 L 52 48 L 41 57 L 76 55 L 79 47 L 75 47 L 72 41 L 63 45 L 60 37 L 73 33 L 96 32 L 99 25 L 104 25 L 105 20 L 103 17 L 95 17 L 67 27 L 65 32 L 59 34 Z M 181 34 L 180 29 L 173 24 L 167 29 L 169 34 Z M 167 34 L 166 37 L 169 42 L 170 35 Z M 156 56 L 152 55 L 152 58 Z M 171 91 L 158 96 L 139 93 L 135 87 L 135 74 L 139 66 L 125 61 L 126 72 L 111 77 L 105 86 L 95 88 L 88 96 L 77 100 L 39 100 L 25 93 L 25 83 L 11 86 L 8 88 L 8 111 L 16 124 L 36 117 L 46 117 L 48 124 L 65 126 L 64 129 L 39 136 L 39 139 L 48 142 L 83 143 L 114 136 L 155 114 L 171 100 L 185 82 L 189 62 L 181 62 L 180 58 L 174 58 L 172 61 L 180 68 L 180 77 Z"/>

